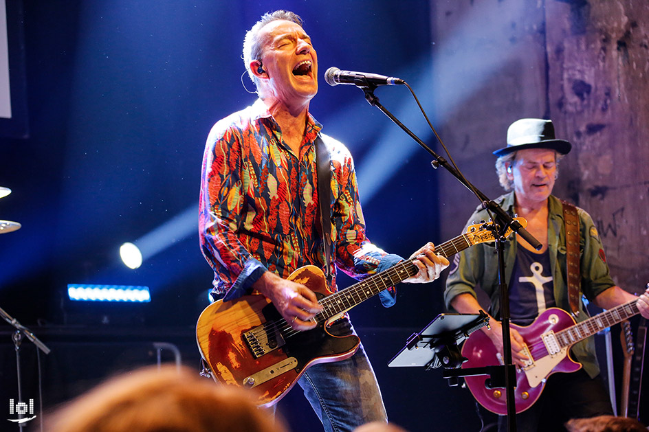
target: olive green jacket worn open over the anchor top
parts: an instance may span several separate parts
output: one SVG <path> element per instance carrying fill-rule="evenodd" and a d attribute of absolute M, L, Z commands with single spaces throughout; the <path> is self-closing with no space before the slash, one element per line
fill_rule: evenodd
<path fill-rule="evenodd" d="M 496 198 L 496 203 L 514 216 L 514 192 Z M 570 310 L 568 288 L 566 286 L 566 232 L 561 201 L 555 196 L 549 197 L 548 202 L 548 253 L 551 274 L 554 284 L 554 299 L 559 308 Z M 580 270 L 582 273 L 582 293 L 588 301 L 592 301 L 599 293 L 615 285 L 608 272 L 608 264 L 604 255 L 602 242 L 599 240 L 597 229 L 591 216 L 583 209 L 577 208 L 580 218 Z M 476 209 L 467 223 L 467 227 L 477 220 L 487 220 L 487 212 L 481 207 Z M 511 271 L 516 262 L 516 236 L 511 235 L 505 242 L 505 281 L 509 282 Z M 455 256 L 451 270 L 446 280 L 444 300 L 451 308 L 452 299 L 459 294 L 469 293 L 476 297 L 474 288 L 481 287 L 491 299 L 489 313 L 498 317 L 498 259 L 496 248 L 492 244 L 481 243 L 462 251 Z M 588 318 L 588 312 L 580 302 L 580 313 L 577 322 Z M 595 356 L 595 343 L 592 337 L 576 343 L 571 348 L 575 361 L 584 365 L 584 370 L 591 377 L 599 374 L 599 365 Z"/>

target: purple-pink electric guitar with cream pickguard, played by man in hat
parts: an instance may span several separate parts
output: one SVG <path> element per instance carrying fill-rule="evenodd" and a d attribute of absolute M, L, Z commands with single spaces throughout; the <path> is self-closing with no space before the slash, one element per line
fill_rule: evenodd
<path fill-rule="evenodd" d="M 632 300 L 580 323 L 575 323 L 563 309 L 549 308 L 527 327 L 510 324 L 525 341 L 523 350 L 529 358 L 524 367 L 516 368 L 516 413 L 534 405 L 548 376 L 581 369 L 582 365 L 570 358 L 568 350 L 572 345 L 638 313 L 637 300 Z M 503 364 L 502 355 L 485 332 L 472 333 L 462 347 L 462 355 L 468 359 L 463 368 Z M 467 376 L 464 379 L 480 405 L 501 416 L 507 413 L 505 389 L 487 388 L 485 376 Z"/>

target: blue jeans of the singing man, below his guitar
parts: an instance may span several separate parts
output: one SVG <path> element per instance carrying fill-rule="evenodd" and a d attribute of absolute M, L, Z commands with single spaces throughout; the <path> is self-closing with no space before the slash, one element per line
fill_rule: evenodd
<path fill-rule="evenodd" d="M 331 334 L 354 333 L 349 320 L 330 328 Z M 363 345 L 349 359 L 309 367 L 298 380 L 325 431 L 352 431 L 366 422 L 387 422 L 381 390 Z"/>

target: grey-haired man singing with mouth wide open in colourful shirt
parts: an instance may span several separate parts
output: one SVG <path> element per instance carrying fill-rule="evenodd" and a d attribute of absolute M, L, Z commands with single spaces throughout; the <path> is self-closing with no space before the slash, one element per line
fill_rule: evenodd
<path fill-rule="evenodd" d="M 290 328 L 306 332 L 316 328 L 322 306 L 307 286 L 287 280 L 289 275 L 316 266 L 327 275 L 329 290 L 336 291 L 336 269 L 364 279 L 403 258 L 366 238 L 349 150 L 320 133 L 322 125 L 309 113 L 318 92 L 318 56 L 300 17 L 283 10 L 262 16 L 245 36 L 243 61 L 259 99 L 217 122 L 208 136 L 201 250 L 214 270 L 214 299 L 226 304 L 261 293 Z M 318 177 L 329 175 L 319 193 Z M 415 268 L 403 282 L 431 282 L 448 266 L 432 243 L 410 258 Z M 384 306 L 395 303 L 394 287 L 378 295 Z M 353 334 L 347 315 L 328 332 Z M 300 370 L 298 379 L 325 430 L 386 422 L 362 344 L 349 356 L 327 362 Z M 250 379 L 252 385 L 263 378 Z"/>

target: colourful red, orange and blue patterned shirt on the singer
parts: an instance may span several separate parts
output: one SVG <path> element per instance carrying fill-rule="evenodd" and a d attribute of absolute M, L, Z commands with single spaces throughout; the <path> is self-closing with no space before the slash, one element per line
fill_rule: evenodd
<path fill-rule="evenodd" d="M 310 114 L 295 155 L 261 100 L 212 127 L 203 155 L 199 234 L 214 269 L 215 298 L 252 291 L 265 271 L 288 277 L 308 264 L 325 270 L 314 140 L 322 126 Z M 331 158 L 331 273 L 362 279 L 400 260 L 365 236 L 353 159 L 339 141 L 320 134 Z M 326 273 L 326 272 L 325 272 Z M 384 306 L 394 288 L 380 293 Z"/>

